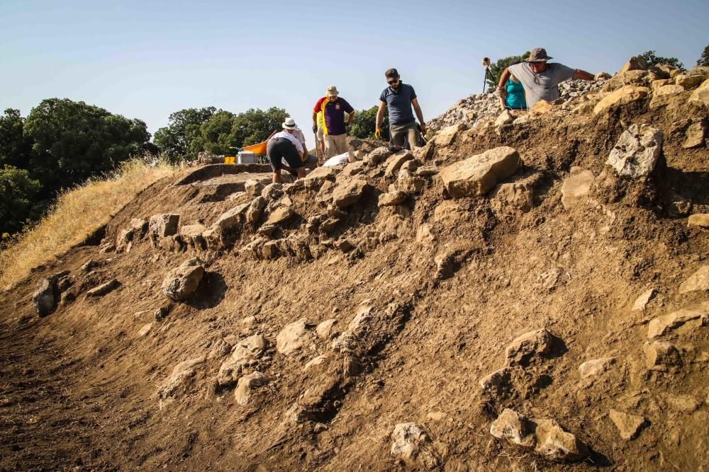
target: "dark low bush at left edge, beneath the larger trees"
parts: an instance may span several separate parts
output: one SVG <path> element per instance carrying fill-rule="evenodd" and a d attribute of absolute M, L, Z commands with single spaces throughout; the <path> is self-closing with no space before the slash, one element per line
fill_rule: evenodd
<path fill-rule="evenodd" d="M 40 216 L 43 205 L 37 196 L 41 189 L 28 171 L 13 166 L 0 168 L 0 235 L 4 236 L 1 239 L 17 233 Z"/>

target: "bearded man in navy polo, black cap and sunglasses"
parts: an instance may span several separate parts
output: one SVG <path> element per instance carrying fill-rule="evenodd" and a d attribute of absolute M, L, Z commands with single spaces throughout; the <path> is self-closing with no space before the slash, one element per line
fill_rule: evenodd
<path fill-rule="evenodd" d="M 384 73 L 386 83 L 389 84 L 379 96 L 379 109 L 376 110 L 376 131 L 374 137 L 381 137 L 381 120 L 384 119 L 384 108 L 389 107 L 389 144 L 392 146 L 404 146 L 408 141 L 413 148 L 416 145 L 416 120 L 411 113 L 411 106 L 416 112 L 418 122 L 421 124 L 421 132 L 425 134 L 426 124 L 423 121 L 423 113 L 416 98 L 413 87 L 403 84 L 401 76 L 396 69 L 389 69 Z"/>

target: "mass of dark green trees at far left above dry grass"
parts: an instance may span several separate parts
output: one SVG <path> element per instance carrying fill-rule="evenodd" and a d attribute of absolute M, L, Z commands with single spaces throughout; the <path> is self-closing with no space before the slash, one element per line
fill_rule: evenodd
<path fill-rule="evenodd" d="M 27 117 L 0 116 L 0 234 L 20 231 L 63 189 L 155 152 L 145 122 L 67 98 L 48 98 Z"/>

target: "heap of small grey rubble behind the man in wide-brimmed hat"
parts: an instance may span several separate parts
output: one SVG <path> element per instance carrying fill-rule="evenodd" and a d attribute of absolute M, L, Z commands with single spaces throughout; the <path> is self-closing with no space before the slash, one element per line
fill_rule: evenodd
<path fill-rule="evenodd" d="M 568 80 L 559 84 L 559 104 L 574 100 L 587 93 L 601 91 L 610 78 L 605 72 L 597 74 L 593 81 Z M 428 122 L 428 128 L 436 132 L 442 128 L 464 123 L 468 127 L 476 127 L 483 118 L 497 117 L 502 111 L 498 91 L 492 93 L 474 93 L 468 98 L 458 100 L 445 113 Z"/>

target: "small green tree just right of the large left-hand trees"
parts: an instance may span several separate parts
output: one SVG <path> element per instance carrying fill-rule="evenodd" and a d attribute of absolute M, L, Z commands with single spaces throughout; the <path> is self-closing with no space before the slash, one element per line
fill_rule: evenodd
<path fill-rule="evenodd" d="M 203 151 L 201 125 L 216 112 L 214 107 L 185 108 L 172 113 L 167 127 L 155 132 L 155 145 L 167 156 L 168 161 L 177 163 L 184 159 L 195 159 Z"/>

